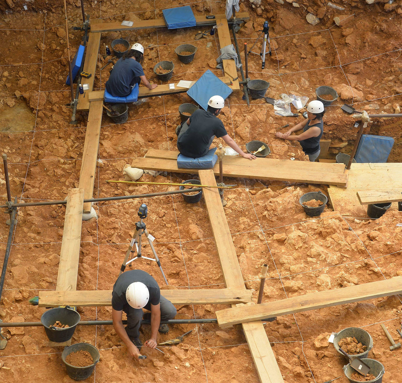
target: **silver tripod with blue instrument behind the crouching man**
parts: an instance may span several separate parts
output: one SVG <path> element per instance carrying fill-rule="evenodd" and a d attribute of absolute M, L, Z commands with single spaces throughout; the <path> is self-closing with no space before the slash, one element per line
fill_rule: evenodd
<path fill-rule="evenodd" d="M 155 261 L 157 263 L 157 265 L 160 268 L 160 272 L 162 273 L 163 279 L 165 280 L 166 284 L 168 285 L 168 280 L 165 277 L 165 273 L 163 272 L 162 266 L 160 265 L 160 260 L 158 258 L 158 255 L 156 254 L 154 245 L 152 244 L 152 242 L 154 241 L 155 238 L 151 234 L 148 233 L 146 225 L 142 221 L 144 218 L 147 217 L 147 215 L 148 215 L 148 207 L 147 207 L 147 205 L 145 203 L 143 203 L 138 209 L 139 222 L 137 222 L 135 224 L 135 232 L 134 232 L 133 238 L 131 239 L 131 242 L 130 242 L 130 244 L 128 246 L 127 253 L 125 255 L 124 261 L 121 264 L 119 275 L 121 275 L 121 273 L 123 273 L 123 271 L 125 270 L 125 267 L 129 263 L 135 261 L 138 258 L 144 258 L 144 259 L 148 259 L 149 261 Z M 148 243 L 150 244 L 152 253 L 154 253 L 155 259 L 142 256 L 142 254 L 141 254 L 141 238 L 142 238 L 142 234 L 145 234 L 145 236 L 146 236 L 146 238 L 148 240 Z M 134 245 L 135 245 L 135 250 L 133 250 Z M 135 252 L 137 252 L 137 256 L 128 261 L 130 253 L 135 253 Z"/>

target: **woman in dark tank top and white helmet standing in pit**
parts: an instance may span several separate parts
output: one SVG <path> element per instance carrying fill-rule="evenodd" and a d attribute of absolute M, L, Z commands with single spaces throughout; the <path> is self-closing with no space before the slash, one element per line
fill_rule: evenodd
<path fill-rule="evenodd" d="M 324 123 L 324 104 L 321 101 L 311 101 L 307 106 L 307 118 L 303 122 L 293 126 L 286 133 L 276 132 L 275 137 L 290 141 L 299 141 L 304 153 L 308 155 L 310 161 L 314 162 L 320 155 L 320 139 L 323 133 Z M 303 129 L 299 135 L 291 135 L 297 130 Z"/>

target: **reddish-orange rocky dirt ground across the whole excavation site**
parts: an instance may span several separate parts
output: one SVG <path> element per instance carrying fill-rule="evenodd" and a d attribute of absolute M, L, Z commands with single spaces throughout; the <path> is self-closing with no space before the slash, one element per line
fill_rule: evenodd
<path fill-rule="evenodd" d="M 248 58 L 251 79 L 269 81 L 267 96 L 281 93 L 315 99 L 315 89 L 328 85 L 339 97 L 327 108 L 323 139 L 331 139 L 328 158 L 350 153 L 357 130 L 354 120 L 340 110 L 344 103 L 370 113 L 399 113 L 402 102 L 402 58 L 400 56 L 401 2 L 324 0 L 253 0 L 240 4 L 250 21 L 238 32 L 239 46 L 251 47 L 263 22 L 269 21 L 272 56 L 265 69 L 259 55 Z M 371 1 L 373 2 L 373 1 Z M 0 147 L 8 156 L 13 197 L 23 201 L 64 199 L 69 188 L 78 186 L 88 113 L 78 113 L 71 125 L 70 91 L 67 76 L 67 45 L 62 2 L 0 0 Z M 186 5 L 183 1 L 85 2 L 90 19 L 103 22 L 162 17 L 162 9 Z M 225 3 L 189 3 L 195 15 L 223 13 Z M 344 9 L 339 9 L 344 8 Z M 82 39 L 79 1 L 67 1 L 71 55 Z M 309 15 L 310 14 L 310 15 Z M 345 16 L 349 16 L 345 18 Z M 318 23 L 312 25 L 309 20 Z M 339 17 L 341 25 L 334 23 Z M 207 29 L 207 28 L 205 28 Z M 201 31 L 205 31 L 202 29 Z M 104 89 L 110 66 L 103 67 L 103 43 L 123 37 L 140 42 L 145 51 L 144 72 L 152 83 L 154 66 L 174 62 L 172 81 L 195 80 L 215 68 L 219 56 L 218 33 L 195 41 L 197 27 L 170 30 L 137 30 L 103 33 L 94 77 L 94 89 Z M 181 63 L 174 49 L 182 43 L 197 47 L 194 60 Z M 254 47 L 260 52 L 261 39 Z M 244 53 L 241 54 L 244 60 Z M 240 75 L 240 72 L 239 72 Z M 123 179 L 123 169 L 133 157 L 150 148 L 175 150 L 174 129 L 180 118 L 178 106 L 192 102 L 185 94 L 152 97 L 130 105 L 129 120 L 114 124 L 103 115 L 94 184 L 94 197 L 153 193 L 160 186 L 107 184 Z M 251 100 L 248 108 L 240 91 L 228 98 L 220 118 L 228 133 L 244 148 L 251 140 L 267 143 L 271 158 L 306 161 L 295 141 L 274 138 L 277 129 L 296 124 L 301 117 L 280 117 L 265 100 Z M 282 130 L 278 130 L 283 132 Z M 400 122 L 376 119 L 365 133 L 392 136 L 395 145 L 389 161 L 401 160 Z M 214 145 L 221 140 L 215 140 Z M 144 174 L 140 181 L 182 182 L 185 174 Z M 242 269 L 245 285 L 256 301 L 261 265 L 269 265 L 263 302 L 309 292 L 390 279 L 402 275 L 402 212 L 392 210 L 377 220 L 345 219 L 327 205 L 320 217 L 308 217 L 299 198 L 325 186 L 225 178 L 237 187 L 225 191 L 225 213 Z M 4 170 L 0 168 L 1 200 L 6 201 Z M 137 209 L 147 203 L 145 222 L 156 240 L 154 246 L 169 281 L 168 288 L 224 288 L 219 259 L 203 199 L 187 204 L 180 195 L 140 201 L 109 201 L 94 205 L 98 219 L 82 222 L 77 290 L 110 290 L 119 273 L 135 230 Z M 29 298 L 39 290 L 55 290 L 64 226 L 65 207 L 26 207 L 18 210 L 18 222 L 6 269 L 0 319 L 4 322 L 39 321 L 45 308 L 32 306 Z M 0 222 L 0 253 L 4 254 L 8 226 Z M 144 244 L 144 255 L 151 256 Z M 160 286 L 162 275 L 154 262 L 136 260 L 133 267 L 152 274 Z M 129 267 L 127 267 L 128 269 Z M 162 292 L 163 293 L 163 292 Z M 225 305 L 177 306 L 178 318 L 213 318 Z M 110 307 L 78 308 L 82 320 L 110 320 Z M 343 306 L 322 308 L 278 317 L 265 330 L 286 383 L 319 383 L 338 376 L 347 383 L 342 367 L 347 360 L 327 342 L 330 333 L 346 327 L 364 327 L 373 337 L 369 358 L 385 366 L 384 383 L 400 383 L 401 349 L 391 352 L 379 323 L 385 322 L 394 339 L 402 319 L 399 296 L 378 298 Z M 146 360 L 133 361 L 112 326 L 78 326 L 72 343 L 88 342 L 100 352 L 100 362 L 87 382 L 258 382 L 258 375 L 241 327 L 222 330 L 217 325 L 173 325 L 160 341 L 193 329 L 181 344 L 144 348 Z M 150 327 L 144 325 L 142 340 Z M 62 348 L 51 347 L 40 327 L 3 328 L 8 339 L 0 350 L 0 381 L 72 382 L 61 360 Z"/>

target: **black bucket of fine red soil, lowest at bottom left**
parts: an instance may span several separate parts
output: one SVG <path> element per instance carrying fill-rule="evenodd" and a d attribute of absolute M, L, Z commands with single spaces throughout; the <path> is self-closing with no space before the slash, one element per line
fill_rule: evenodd
<path fill-rule="evenodd" d="M 89 343 L 76 343 L 64 348 L 62 352 L 68 376 L 74 380 L 89 378 L 99 359 L 98 349 Z"/>

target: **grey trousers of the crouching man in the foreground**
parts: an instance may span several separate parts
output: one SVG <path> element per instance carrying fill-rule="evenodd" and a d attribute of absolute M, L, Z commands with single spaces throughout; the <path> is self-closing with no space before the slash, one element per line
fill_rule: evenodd
<path fill-rule="evenodd" d="M 151 311 L 150 302 L 148 302 L 144 308 Z M 123 311 L 127 314 L 127 327 L 125 328 L 127 335 L 134 338 L 139 337 L 139 327 L 141 326 L 142 315 L 144 313 L 142 308 L 133 308 L 129 304 L 125 304 Z M 175 315 L 176 308 L 173 306 L 172 302 L 161 295 L 160 320 L 168 321 L 169 319 L 173 319 Z"/>

